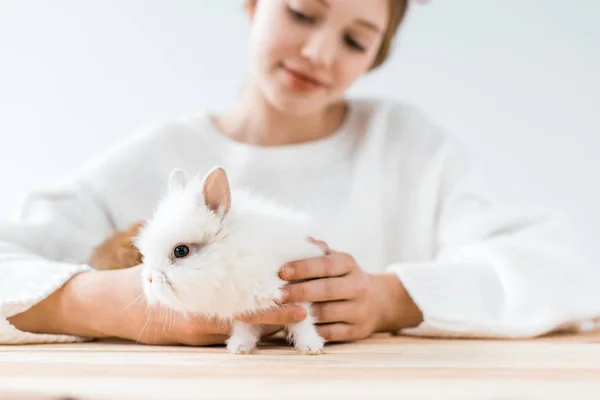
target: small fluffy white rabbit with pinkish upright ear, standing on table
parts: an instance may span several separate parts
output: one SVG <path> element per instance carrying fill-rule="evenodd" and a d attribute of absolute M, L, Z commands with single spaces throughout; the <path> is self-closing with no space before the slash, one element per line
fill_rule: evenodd
<path fill-rule="evenodd" d="M 236 317 L 277 306 L 286 284 L 279 269 L 323 254 L 309 240 L 314 235 L 307 215 L 230 190 L 224 169 L 214 167 L 189 182 L 182 170 L 172 171 L 166 195 L 134 243 L 150 304 L 230 321 L 227 348 L 246 354 L 256 347 L 261 327 Z M 308 316 L 286 326 L 288 339 L 302 354 L 319 354 L 324 340 L 310 303 L 301 305 Z"/>

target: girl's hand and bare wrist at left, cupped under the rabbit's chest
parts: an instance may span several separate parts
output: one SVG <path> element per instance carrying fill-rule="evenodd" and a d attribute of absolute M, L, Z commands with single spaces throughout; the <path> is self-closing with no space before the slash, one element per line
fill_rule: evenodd
<path fill-rule="evenodd" d="M 298 305 L 244 318 L 268 325 L 264 336 L 306 317 Z M 153 345 L 224 344 L 230 324 L 149 306 L 142 295 L 140 267 L 83 272 L 52 295 L 9 320 L 17 329 L 88 338 L 122 338 Z"/>

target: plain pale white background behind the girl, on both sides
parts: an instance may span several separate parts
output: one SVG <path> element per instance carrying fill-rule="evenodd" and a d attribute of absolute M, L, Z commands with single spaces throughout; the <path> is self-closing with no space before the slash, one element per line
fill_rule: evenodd
<path fill-rule="evenodd" d="M 415 2 L 421 3 L 421 2 Z M 0 218 L 141 127 L 230 104 L 242 0 L 0 0 Z M 351 89 L 419 106 L 497 191 L 573 221 L 600 265 L 600 2 L 415 4 Z"/>

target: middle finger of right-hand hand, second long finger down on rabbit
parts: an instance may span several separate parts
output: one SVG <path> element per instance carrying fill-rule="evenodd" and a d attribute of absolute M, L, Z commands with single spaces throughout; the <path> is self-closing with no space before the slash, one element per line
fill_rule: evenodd
<path fill-rule="evenodd" d="M 352 277 L 315 279 L 291 283 L 283 289 L 286 303 L 349 300 L 356 297 Z"/>

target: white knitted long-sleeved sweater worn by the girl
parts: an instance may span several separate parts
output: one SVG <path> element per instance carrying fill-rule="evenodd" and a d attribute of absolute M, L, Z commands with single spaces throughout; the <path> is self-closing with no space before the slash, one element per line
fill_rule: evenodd
<path fill-rule="evenodd" d="M 414 108 L 354 99 L 333 135 L 260 147 L 202 113 L 127 137 L 0 224 L 0 343 L 86 338 L 21 332 L 6 318 L 89 269 L 117 229 L 148 218 L 173 168 L 224 166 L 239 184 L 312 212 L 332 248 L 369 272 L 393 271 L 423 311 L 414 335 L 529 337 L 600 316 L 600 269 L 570 227 L 499 204 L 464 154 Z"/>

